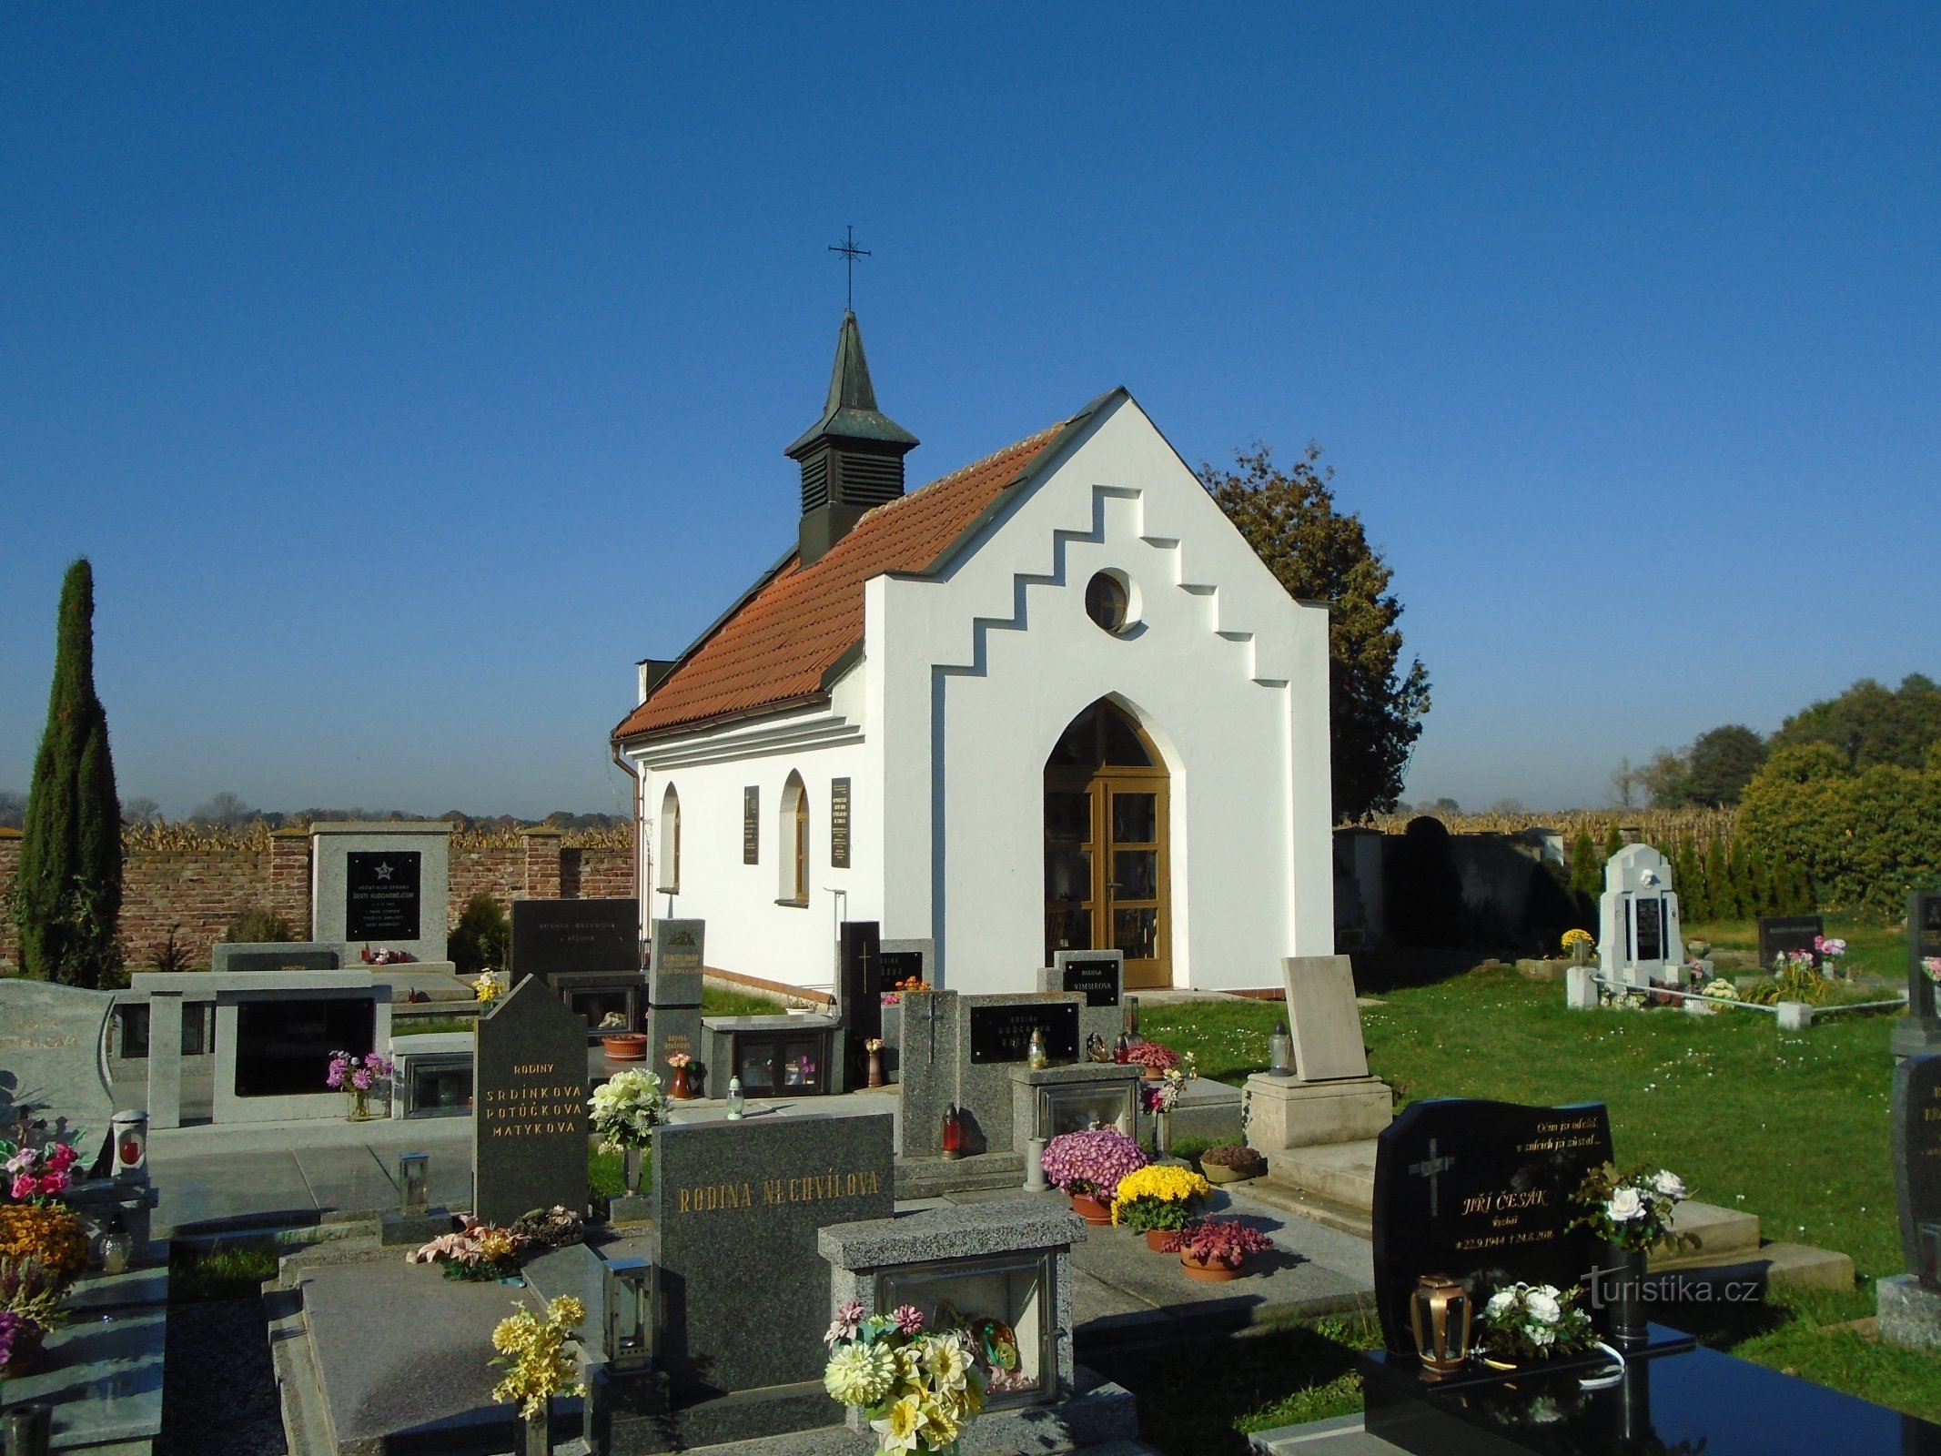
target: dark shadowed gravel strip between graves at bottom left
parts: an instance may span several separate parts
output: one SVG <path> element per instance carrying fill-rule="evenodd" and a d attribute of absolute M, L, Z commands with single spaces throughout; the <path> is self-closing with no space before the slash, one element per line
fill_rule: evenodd
<path fill-rule="evenodd" d="M 285 1456 L 260 1299 L 169 1308 L 169 1378 L 155 1456 Z"/>

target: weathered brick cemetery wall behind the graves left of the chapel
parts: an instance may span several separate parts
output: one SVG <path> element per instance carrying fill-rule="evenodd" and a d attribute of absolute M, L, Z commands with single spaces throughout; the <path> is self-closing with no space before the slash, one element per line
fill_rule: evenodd
<path fill-rule="evenodd" d="M 625 899 L 633 895 L 633 829 L 561 833 L 462 831 L 450 846 L 450 924 L 474 893 L 501 907 L 516 899 Z M 0 901 L 19 870 L 19 831 L 0 829 Z M 299 936 L 311 924 L 311 837 L 305 829 L 196 829 L 136 825 L 122 831 L 122 945 L 128 971 L 155 969 L 175 932 L 188 969 L 248 907 L 281 914 Z M 19 934 L 0 916 L 0 976 L 19 975 Z"/>

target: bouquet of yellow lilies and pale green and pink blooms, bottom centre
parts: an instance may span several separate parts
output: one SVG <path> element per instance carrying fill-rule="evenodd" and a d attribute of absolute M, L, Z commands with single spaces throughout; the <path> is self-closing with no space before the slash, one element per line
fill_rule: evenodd
<path fill-rule="evenodd" d="M 837 1308 L 823 1343 L 823 1390 L 868 1413 L 877 1456 L 953 1450 L 984 1409 L 970 1340 L 963 1330 L 924 1330 L 914 1305 L 864 1318 L 850 1301 Z"/>

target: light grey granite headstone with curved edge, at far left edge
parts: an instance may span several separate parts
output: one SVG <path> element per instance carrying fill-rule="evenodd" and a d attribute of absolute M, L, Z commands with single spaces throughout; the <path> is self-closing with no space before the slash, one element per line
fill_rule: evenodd
<path fill-rule="evenodd" d="M 115 1095 L 103 1060 L 103 1031 L 115 992 L 0 980 L 0 1126 L 25 1116 L 78 1145 L 93 1169 L 109 1140 Z"/>

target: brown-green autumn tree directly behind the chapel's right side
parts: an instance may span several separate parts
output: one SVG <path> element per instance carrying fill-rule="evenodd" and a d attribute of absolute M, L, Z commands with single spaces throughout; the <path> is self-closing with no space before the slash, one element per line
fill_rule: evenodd
<path fill-rule="evenodd" d="M 1328 606 L 1328 707 L 1333 817 L 1392 810 L 1429 712 L 1429 670 L 1401 668 L 1394 571 L 1361 518 L 1335 509 L 1320 447 L 1287 470 L 1267 445 L 1234 450 L 1234 468 L 1200 466 L 1200 481 L 1289 596 Z"/>

